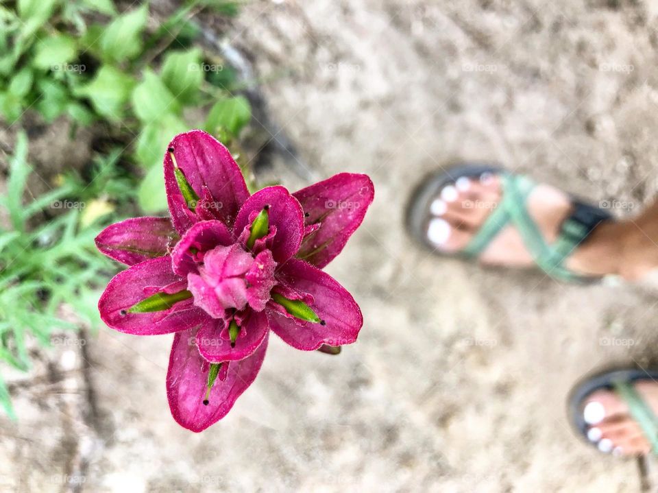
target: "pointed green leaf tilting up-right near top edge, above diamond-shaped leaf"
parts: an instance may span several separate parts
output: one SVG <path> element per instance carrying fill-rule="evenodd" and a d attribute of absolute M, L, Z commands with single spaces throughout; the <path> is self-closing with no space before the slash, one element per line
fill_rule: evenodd
<path fill-rule="evenodd" d="M 132 60 L 142 50 L 142 32 L 149 14 L 147 3 L 114 19 L 99 40 L 103 60 L 123 62 Z"/>

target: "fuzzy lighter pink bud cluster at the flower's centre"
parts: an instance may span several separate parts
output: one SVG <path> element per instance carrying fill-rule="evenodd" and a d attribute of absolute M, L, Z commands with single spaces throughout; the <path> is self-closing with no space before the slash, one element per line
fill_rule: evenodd
<path fill-rule="evenodd" d="M 194 303 L 210 316 L 223 318 L 228 309 L 256 311 L 265 308 L 276 284 L 276 262 L 269 250 L 255 257 L 241 245 L 217 246 L 206 252 L 198 274 L 188 274 L 188 289 Z"/>

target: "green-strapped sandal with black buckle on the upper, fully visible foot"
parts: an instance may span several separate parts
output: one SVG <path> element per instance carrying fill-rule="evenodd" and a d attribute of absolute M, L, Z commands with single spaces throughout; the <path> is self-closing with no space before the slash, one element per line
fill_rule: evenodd
<path fill-rule="evenodd" d="M 483 176 L 483 173 L 491 173 L 500 177 L 502 183 L 500 203 L 491 211 L 484 224 L 463 250 L 457 254 L 440 252 L 427 235 L 429 221 L 433 217 L 430 204 L 439 197 L 443 187 L 454 184 L 461 177 L 479 178 Z M 533 191 L 535 185 L 530 178 L 504 171 L 495 165 L 462 163 L 450 167 L 448 171 L 435 173 L 419 184 L 407 208 L 406 226 L 411 236 L 430 248 L 432 252 L 443 256 L 458 255 L 474 259 L 478 258 L 502 228 L 513 224 L 520 232 L 524 244 L 537 266 L 549 276 L 574 282 L 598 280 L 598 277 L 583 276 L 571 271 L 565 267 L 565 261 L 602 221 L 613 220 L 611 215 L 596 206 L 572 197 L 573 211 L 571 215 L 563 221 L 557 240 L 548 244 L 526 207 L 528 195 Z"/>

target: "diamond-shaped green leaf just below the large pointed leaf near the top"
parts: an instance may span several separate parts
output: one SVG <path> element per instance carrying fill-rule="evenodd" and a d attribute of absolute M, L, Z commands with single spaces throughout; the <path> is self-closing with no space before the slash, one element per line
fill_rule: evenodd
<path fill-rule="evenodd" d="M 114 67 L 103 65 L 94 80 L 77 88 L 75 95 L 87 97 L 99 115 L 118 121 L 123 106 L 130 99 L 134 80 Z"/>

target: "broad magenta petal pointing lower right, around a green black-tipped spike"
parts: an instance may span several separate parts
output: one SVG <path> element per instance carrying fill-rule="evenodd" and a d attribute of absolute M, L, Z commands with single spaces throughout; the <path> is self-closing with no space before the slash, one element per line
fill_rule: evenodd
<path fill-rule="evenodd" d="M 310 307 L 325 325 L 286 317 L 266 309 L 270 328 L 293 348 L 310 351 L 328 344 L 341 346 L 356 341 L 363 326 L 358 304 L 344 287 L 326 272 L 304 261 L 291 259 L 278 272 L 279 280 L 300 293 L 313 296 Z"/>

